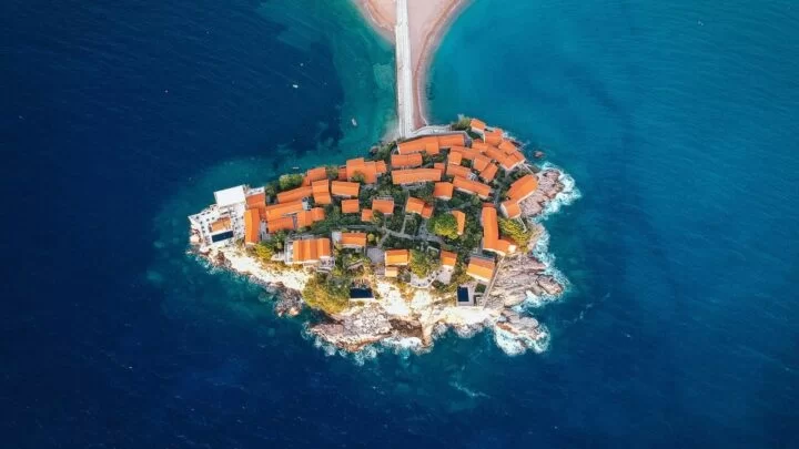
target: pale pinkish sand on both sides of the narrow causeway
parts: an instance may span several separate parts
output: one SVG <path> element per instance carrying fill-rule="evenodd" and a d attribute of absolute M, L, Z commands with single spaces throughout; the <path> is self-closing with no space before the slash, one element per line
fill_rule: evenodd
<path fill-rule="evenodd" d="M 355 4 L 384 38 L 394 42 L 394 0 L 355 0 Z M 467 4 L 468 0 L 408 0 L 416 127 L 428 124 L 426 85 L 433 52 L 457 13 Z"/>

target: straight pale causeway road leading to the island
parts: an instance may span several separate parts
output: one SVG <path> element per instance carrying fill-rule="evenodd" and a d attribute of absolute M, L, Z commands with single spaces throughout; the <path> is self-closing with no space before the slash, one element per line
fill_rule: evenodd
<path fill-rule="evenodd" d="M 397 67 L 397 119 L 400 136 L 409 137 L 414 132 L 414 92 L 411 62 L 411 31 L 408 29 L 407 0 L 396 0 L 396 67 Z"/>

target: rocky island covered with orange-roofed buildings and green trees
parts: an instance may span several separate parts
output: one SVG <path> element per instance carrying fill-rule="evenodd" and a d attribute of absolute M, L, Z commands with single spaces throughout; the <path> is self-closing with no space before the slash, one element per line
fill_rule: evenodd
<path fill-rule="evenodd" d="M 344 165 L 215 192 L 189 216 L 191 252 L 264 285 L 279 315 L 314 310 L 310 335 L 348 353 L 423 350 L 447 329 L 542 351 L 547 329 L 522 306 L 563 294 L 538 218 L 572 191 L 502 129 L 461 118 Z"/>

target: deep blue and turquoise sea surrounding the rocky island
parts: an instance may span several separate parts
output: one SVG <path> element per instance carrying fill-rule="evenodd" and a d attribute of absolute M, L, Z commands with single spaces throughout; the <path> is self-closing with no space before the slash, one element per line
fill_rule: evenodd
<path fill-rule="evenodd" d="M 9 0 L 3 448 L 799 447 L 799 6 L 475 0 L 433 118 L 540 146 L 553 334 L 330 355 L 184 254 L 212 192 L 363 153 L 393 52 L 344 0 Z M 358 123 L 352 126 L 351 119 Z"/>

